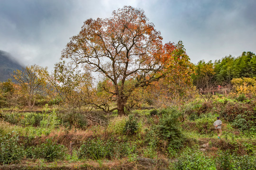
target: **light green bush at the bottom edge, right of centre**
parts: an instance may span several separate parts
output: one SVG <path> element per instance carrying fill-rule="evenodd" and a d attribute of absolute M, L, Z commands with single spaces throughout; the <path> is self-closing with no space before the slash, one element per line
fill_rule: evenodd
<path fill-rule="evenodd" d="M 195 149 L 186 149 L 177 162 L 174 163 L 175 170 L 216 170 L 214 161 L 210 157 Z"/>

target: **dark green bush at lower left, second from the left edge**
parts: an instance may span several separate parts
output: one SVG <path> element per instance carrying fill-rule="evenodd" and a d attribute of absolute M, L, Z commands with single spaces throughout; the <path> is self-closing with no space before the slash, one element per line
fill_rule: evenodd
<path fill-rule="evenodd" d="M 31 152 L 35 149 L 35 152 Z M 63 159 L 65 155 L 65 148 L 62 144 L 55 144 L 51 139 L 46 139 L 44 144 L 40 144 L 36 148 L 29 148 L 27 155 L 29 157 L 43 158 L 47 161 L 54 161 L 56 159 Z"/>

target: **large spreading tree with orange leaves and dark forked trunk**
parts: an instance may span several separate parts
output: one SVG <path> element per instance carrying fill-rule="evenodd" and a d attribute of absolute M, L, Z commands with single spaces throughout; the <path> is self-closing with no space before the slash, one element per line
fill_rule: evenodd
<path fill-rule="evenodd" d="M 62 58 L 108 78 L 114 86 L 109 93 L 117 102 L 113 110 L 122 115 L 135 89 L 165 76 L 170 66 L 167 53 L 170 51 L 165 51 L 160 32 L 148 22 L 144 11 L 125 6 L 113 11 L 110 18 L 86 20 L 81 32 L 66 45 Z M 133 84 L 127 89 L 131 80 Z"/>

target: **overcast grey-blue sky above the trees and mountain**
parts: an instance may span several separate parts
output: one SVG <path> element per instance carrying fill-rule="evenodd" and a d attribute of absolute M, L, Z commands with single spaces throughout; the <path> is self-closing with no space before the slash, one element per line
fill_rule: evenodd
<path fill-rule="evenodd" d="M 144 9 L 163 42 L 183 41 L 195 64 L 256 53 L 256 0 L 0 0 L 0 50 L 52 70 L 89 18 Z"/>

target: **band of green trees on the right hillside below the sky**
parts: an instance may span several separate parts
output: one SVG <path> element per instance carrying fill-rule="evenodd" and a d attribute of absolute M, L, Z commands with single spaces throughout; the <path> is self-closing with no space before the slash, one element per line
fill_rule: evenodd
<path fill-rule="evenodd" d="M 195 65 L 192 75 L 193 84 L 197 88 L 209 90 L 213 86 L 231 86 L 231 80 L 239 77 L 256 77 L 256 55 L 253 52 L 243 52 L 237 58 L 231 55 L 215 60 L 214 63 L 204 60 Z"/>

